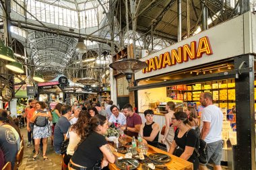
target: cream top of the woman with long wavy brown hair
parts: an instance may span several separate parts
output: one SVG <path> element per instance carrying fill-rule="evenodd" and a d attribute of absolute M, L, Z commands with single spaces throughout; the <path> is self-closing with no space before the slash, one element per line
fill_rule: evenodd
<path fill-rule="evenodd" d="M 75 132 L 73 132 L 73 130 L 67 132 L 67 134 L 66 136 L 67 138 L 69 138 L 69 145 L 67 146 L 67 155 L 73 155 L 73 153 L 75 153 L 75 147 L 80 142 L 81 138 Z"/>

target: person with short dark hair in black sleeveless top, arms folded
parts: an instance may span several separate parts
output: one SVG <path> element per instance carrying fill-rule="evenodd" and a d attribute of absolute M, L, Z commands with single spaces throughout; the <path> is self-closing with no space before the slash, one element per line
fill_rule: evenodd
<path fill-rule="evenodd" d="M 159 147 L 158 136 L 160 132 L 159 124 L 154 122 L 154 111 L 145 110 L 144 116 L 146 118 L 145 124 L 141 124 L 139 134 L 146 142 L 152 146 Z"/>

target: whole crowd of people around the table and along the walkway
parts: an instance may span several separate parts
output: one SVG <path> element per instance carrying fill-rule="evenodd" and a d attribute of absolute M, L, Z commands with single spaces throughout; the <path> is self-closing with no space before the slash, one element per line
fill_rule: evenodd
<path fill-rule="evenodd" d="M 177 112 L 174 102 L 166 103 L 166 128 L 162 143 L 166 144 L 170 154 L 193 163 L 193 169 L 206 169 L 208 162 L 214 163 L 215 169 L 221 169 L 222 112 L 213 105 L 211 93 L 202 93 L 200 102 L 205 107 L 200 123 L 194 107 L 187 106 L 185 112 Z M 61 155 L 63 141 L 69 139 L 67 151 L 63 155 L 63 169 L 106 167 L 108 163 L 115 162 L 115 156 L 104 136 L 109 126 L 120 128 L 129 136 L 137 137 L 140 134 L 143 143 L 159 147 L 160 126 L 154 122 L 153 110 L 144 112 L 146 120 L 142 124 L 141 116 L 134 112 L 129 103 L 123 106 L 122 112 L 117 105 L 113 105 L 113 101 L 108 101 L 106 110 L 96 101 L 92 108 L 77 102 L 73 105 L 57 103 L 51 109 L 47 108 L 46 103 L 36 99 L 28 103 L 27 146 L 33 143 L 34 160 L 38 159 L 40 151 L 44 161 L 49 159 L 46 148 L 47 139 L 51 137 L 57 155 Z M 7 112 L 0 110 L 0 159 L 4 160 L 0 162 L 10 161 L 12 165 L 15 163 L 21 138 L 18 127 L 9 120 Z M 204 164 L 199 163 L 195 152 L 199 148 L 199 138 L 207 143 L 207 162 Z M 181 153 L 177 148 L 181 149 Z"/>

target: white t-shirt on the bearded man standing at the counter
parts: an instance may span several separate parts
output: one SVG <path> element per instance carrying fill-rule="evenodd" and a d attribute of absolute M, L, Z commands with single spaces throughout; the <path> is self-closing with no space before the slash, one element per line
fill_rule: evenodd
<path fill-rule="evenodd" d="M 216 105 L 208 105 L 203 108 L 200 130 L 203 128 L 203 122 L 210 122 L 210 131 L 205 138 L 206 143 L 222 140 L 222 121 L 222 111 Z"/>

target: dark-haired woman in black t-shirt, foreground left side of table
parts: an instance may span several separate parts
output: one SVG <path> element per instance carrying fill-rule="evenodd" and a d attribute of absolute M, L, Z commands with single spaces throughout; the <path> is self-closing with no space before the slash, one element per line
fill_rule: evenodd
<path fill-rule="evenodd" d="M 115 156 L 103 136 L 107 129 L 108 120 L 105 116 L 98 114 L 90 119 L 90 124 L 86 126 L 85 140 L 71 157 L 69 169 L 100 169 L 106 167 L 108 162 L 115 162 Z"/>

